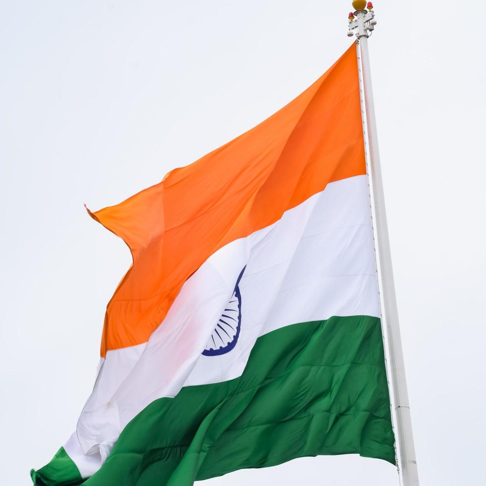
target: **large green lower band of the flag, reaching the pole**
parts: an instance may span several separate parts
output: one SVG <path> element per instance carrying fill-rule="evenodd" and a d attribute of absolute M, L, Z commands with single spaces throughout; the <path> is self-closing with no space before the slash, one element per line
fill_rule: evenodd
<path fill-rule="evenodd" d="M 185 387 L 140 412 L 84 486 L 189 486 L 351 453 L 395 464 L 376 317 L 331 317 L 260 337 L 241 377 Z"/>

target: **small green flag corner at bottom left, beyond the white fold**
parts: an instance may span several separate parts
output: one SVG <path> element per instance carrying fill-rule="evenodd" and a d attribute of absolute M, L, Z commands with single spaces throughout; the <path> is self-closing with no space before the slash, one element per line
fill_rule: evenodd
<path fill-rule="evenodd" d="M 35 486 L 78 486 L 83 483 L 78 468 L 66 454 L 64 447 L 58 450 L 51 462 L 39 469 L 30 472 Z"/>

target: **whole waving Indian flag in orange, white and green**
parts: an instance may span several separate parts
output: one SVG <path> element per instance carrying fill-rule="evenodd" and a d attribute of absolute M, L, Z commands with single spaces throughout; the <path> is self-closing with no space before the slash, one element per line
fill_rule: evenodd
<path fill-rule="evenodd" d="M 35 485 L 395 464 L 355 45 L 264 122 L 90 214 L 133 264 L 93 392 Z"/>

